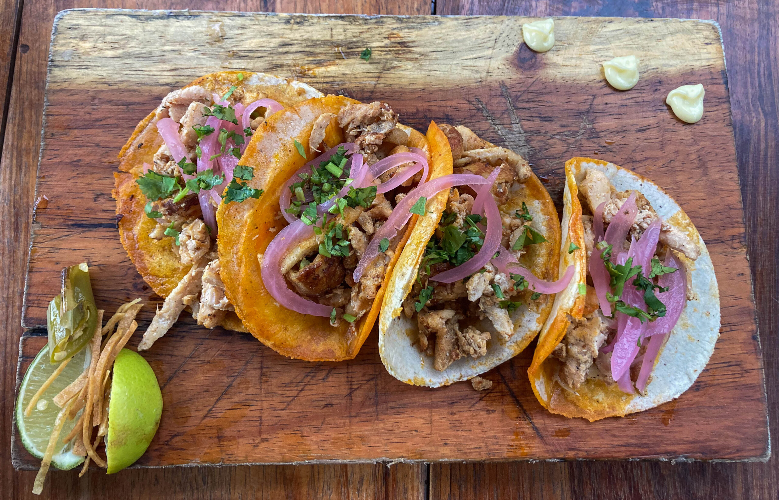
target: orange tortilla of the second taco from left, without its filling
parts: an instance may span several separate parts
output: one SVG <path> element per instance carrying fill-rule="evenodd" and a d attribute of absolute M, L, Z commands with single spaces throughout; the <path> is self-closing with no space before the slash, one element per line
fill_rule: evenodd
<path fill-rule="evenodd" d="M 333 327 L 328 317 L 299 314 L 280 306 L 265 288 L 260 273 L 263 253 L 273 237 L 287 225 L 279 207 L 279 197 L 286 189 L 284 184 L 312 160 L 310 155 L 303 158 L 298 153 L 294 141 L 309 151 L 309 137 L 319 115 L 338 115 L 340 109 L 350 103 L 358 104 L 358 101 L 331 95 L 302 102 L 267 119 L 256 130 L 241 158 L 242 165 L 254 168 L 255 175 L 248 182 L 249 186 L 264 190 L 263 195 L 240 204 L 221 204 L 217 211 L 220 273 L 227 298 L 252 335 L 277 353 L 291 358 L 308 361 L 354 358 L 370 334 L 382 302 L 384 285 L 379 288 L 372 307 L 356 322 L 356 335 L 349 335 L 346 321 Z M 438 175 L 446 163 L 442 160 L 442 151 L 428 146 L 428 140 L 416 130 L 398 127 L 408 134 L 409 147 L 419 147 L 428 154 L 432 175 Z M 344 133 L 333 119 L 326 129 L 324 144 L 330 148 L 342 142 Z M 410 225 L 414 220 L 415 217 Z M 409 231 L 400 238 L 388 264 L 385 285 Z"/>

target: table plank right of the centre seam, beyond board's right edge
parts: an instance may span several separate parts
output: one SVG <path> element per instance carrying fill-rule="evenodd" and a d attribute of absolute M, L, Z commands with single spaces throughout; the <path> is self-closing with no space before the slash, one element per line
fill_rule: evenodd
<path fill-rule="evenodd" d="M 779 161 L 774 147 L 779 129 L 777 80 L 779 56 L 775 37 L 749 37 L 747 32 L 777 33 L 777 4 L 755 0 L 694 2 L 540 2 L 438 0 L 442 15 L 519 16 L 644 16 L 713 19 L 720 23 L 728 61 L 728 87 L 744 193 L 746 243 L 753 270 L 754 295 L 767 380 L 779 378 L 777 289 L 777 213 Z M 760 230 L 760 228 L 767 230 Z M 779 395 L 768 384 L 770 427 L 779 432 Z M 774 449 L 776 443 L 774 441 Z M 537 478 L 543 477 L 543 481 Z M 777 498 L 779 461 L 767 463 L 493 463 L 432 465 L 430 498 Z M 521 491 L 517 485 L 533 484 Z M 561 484 L 560 495 L 549 495 Z M 608 484 L 608 487 L 604 487 Z M 575 495 L 572 495 L 575 491 Z"/>

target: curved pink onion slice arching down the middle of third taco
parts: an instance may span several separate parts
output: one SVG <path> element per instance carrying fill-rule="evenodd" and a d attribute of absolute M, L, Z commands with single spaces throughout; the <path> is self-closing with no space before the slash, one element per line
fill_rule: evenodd
<path fill-rule="evenodd" d="M 485 242 L 481 245 L 481 248 L 476 255 L 460 264 L 456 268 L 443 271 L 438 275 L 432 276 L 435 282 L 452 283 L 459 281 L 460 279 L 467 278 L 477 272 L 479 269 L 485 267 L 492 256 L 495 255 L 495 251 L 500 246 L 500 239 L 503 233 L 502 219 L 500 217 L 500 211 L 498 210 L 498 204 L 495 203 L 495 198 L 492 197 L 492 184 L 497 179 L 500 168 L 495 168 L 487 178 L 487 183 L 478 187 L 478 195 L 474 200 L 474 208 L 471 211 L 473 214 L 481 215 L 482 208 L 485 211 L 487 217 L 487 229 L 485 232 Z M 478 207 L 478 208 L 477 208 Z"/>

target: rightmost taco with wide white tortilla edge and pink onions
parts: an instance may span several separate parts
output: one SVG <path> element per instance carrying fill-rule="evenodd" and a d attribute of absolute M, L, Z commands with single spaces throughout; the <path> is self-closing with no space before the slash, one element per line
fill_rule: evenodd
<path fill-rule="evenodd" d="M 561 264 L 528 374 L 552 413 L 590 421 L 670 401 L 706 367 L 720 328 L 717 278 L 689 217 L 649 179 L 566 162 Z"/>

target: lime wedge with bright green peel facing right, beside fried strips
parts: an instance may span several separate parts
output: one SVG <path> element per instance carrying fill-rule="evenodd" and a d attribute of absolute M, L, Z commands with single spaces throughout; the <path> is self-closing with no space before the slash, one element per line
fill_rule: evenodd
<path fill-rule="evenodd" d="M 122 349 L 114 362 L 105 453 L 112 474 L 146 452 L 162 414 L 157 376 L 139 353 Z"/>

